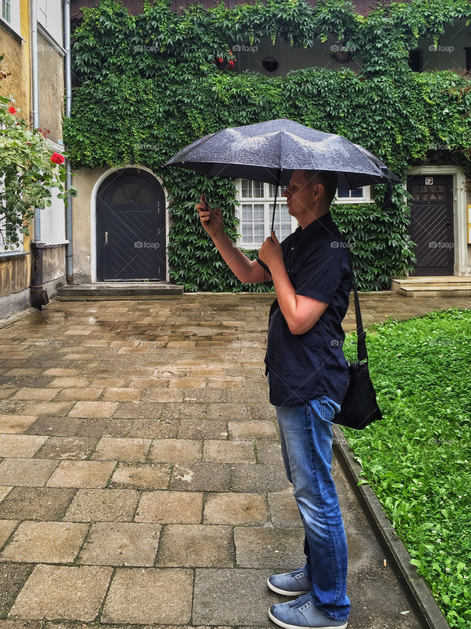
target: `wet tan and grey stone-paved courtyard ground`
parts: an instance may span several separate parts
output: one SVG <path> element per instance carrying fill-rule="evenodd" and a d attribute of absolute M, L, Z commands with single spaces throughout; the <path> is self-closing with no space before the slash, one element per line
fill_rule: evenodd
<path fill-rule="evenodd" d="M 471 299 L 362 295 L 365 323 Z M 273 626 L 303 563 L 270 294 L 55 302 L 0 330 L 0 625 Z M 345 328 L 352 327 L 349 312 Z M 351 629 L 418 628 L 337 462 Z"/>

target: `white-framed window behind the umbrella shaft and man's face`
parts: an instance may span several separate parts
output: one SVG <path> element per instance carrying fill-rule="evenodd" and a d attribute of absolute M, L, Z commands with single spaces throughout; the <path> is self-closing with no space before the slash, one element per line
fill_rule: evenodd
<path fill-rule="evenodd" d="M 239 219 L 239 240 L 244 249 L 259 249 L 270 235 L 275 186 L 249 179 L 237 180 L 236 217 Z M 284 187 L 276 195 L 274 232 L 279 242 L 290 235 L 298 221 L 288 213 Z"/>

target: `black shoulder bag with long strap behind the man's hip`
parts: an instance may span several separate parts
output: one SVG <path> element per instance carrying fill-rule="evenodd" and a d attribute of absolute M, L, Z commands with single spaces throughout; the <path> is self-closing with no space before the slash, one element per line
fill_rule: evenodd
<path fill-rule="evenodd" d="M 349 369 L 349 386 L 342 402 L 340 412 L 333 418 L 333 423 L 362 430 L 373 421 L 382 420 L 382 413 L 376 403 L 376 392 L 368 369 L 368 352 L 366 350 L 366 332 L 358 299 L 355 274 L 350 255 L 350 270 L 352 272 L 352 287 L 355 298 L 355 319 L 357 323 L 357 362 L 347 362 Z"/>

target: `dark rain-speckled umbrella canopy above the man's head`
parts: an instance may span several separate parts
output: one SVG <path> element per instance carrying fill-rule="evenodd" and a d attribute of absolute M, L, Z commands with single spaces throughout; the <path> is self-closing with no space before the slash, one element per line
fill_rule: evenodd
<path fill-rule="evenodd" d="M 165 166 L 211 177 L 290 184 L 293 170 L 334 170 L 338 187 L 355 189 L 399 181 L 365 148 L 342 135 L 323 133 L 288 118 L 222 129 L 192 142 Z"/>

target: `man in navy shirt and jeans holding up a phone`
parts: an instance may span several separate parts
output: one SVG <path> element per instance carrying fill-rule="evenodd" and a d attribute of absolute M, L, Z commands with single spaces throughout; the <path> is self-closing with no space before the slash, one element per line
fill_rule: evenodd
<path fill-rule="evenodd" d="M 283 243 L 274 231 L 249 260 L 223 228 L 219 208 L 197 204 L 203 227 L 241 282 L 273 280 L 265 358 L 270 402 L 276 406 L 281 452 L 305 528 L 304 567 L 274 574 L 268 586 L 299 598 L 272 605 L 285 629 L 347 627 L 347 540 L 330 474 L 332 420 L 347 391 L 342 320 L 349 306 L 350 265 L 330 204 L 337 175 L 295 170 L 284 192 L 299 223 Z M 203 201 L 203 197 L 201 199 Z"/>

